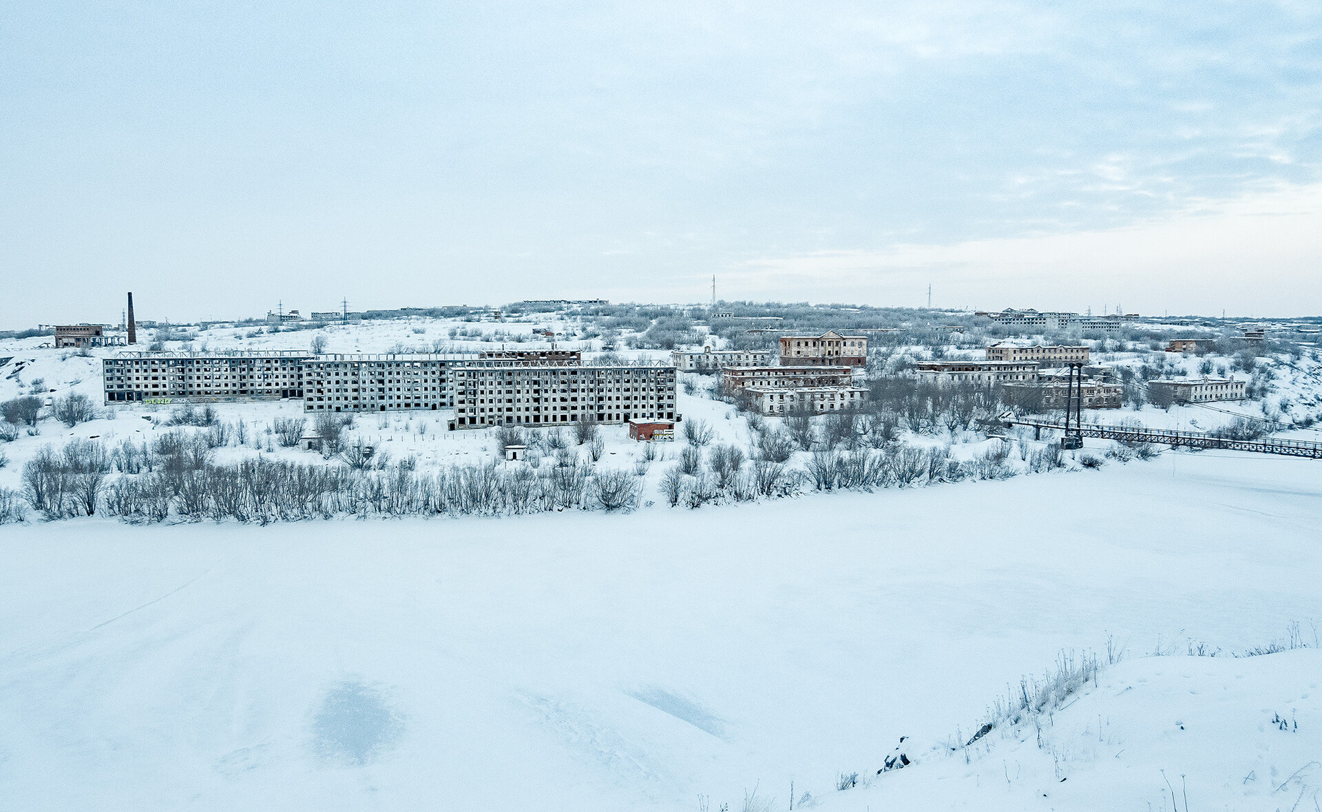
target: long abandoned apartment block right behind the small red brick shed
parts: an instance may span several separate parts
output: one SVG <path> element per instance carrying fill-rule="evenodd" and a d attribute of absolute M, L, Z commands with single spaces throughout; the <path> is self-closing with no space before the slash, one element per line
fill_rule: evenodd
<path fill-rule="evenodd" d="M 674 384 L 670 366 L 461 367 L 456 428 L 674 420 Z"/>

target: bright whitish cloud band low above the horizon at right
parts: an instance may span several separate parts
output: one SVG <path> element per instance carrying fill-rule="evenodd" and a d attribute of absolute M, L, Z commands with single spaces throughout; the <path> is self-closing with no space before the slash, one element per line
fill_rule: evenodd
<path fill-rule="evenodd" d="M 1282 186 L 1118 228 L 876 251 L 814 251 L 734 264 L 727 287 L 771 298 L 1149 313 L 1322 312 L 1322 184 Z M 804 294 L 812 292 L 810 294 Z M 903 292 L 907 301 L 895 301 Z M 953 293 L 957 292 L 957 293 Z M 949 297 L 960 296 L 958 301 Z M 936 302 L 941 305 L 943 302 Z"/>

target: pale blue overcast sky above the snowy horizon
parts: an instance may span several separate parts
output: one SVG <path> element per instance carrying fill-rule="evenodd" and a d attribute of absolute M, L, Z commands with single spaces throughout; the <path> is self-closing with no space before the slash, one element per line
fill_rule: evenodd
<path fill-rule="evenodd" d="M 521 298 L 1322 313 L 1322 4 L 0 13 L 0 329 Z"/>

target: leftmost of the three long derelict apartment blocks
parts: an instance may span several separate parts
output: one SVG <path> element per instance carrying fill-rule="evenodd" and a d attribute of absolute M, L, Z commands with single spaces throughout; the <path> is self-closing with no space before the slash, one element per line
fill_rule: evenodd
<path fill-rule="evenodd" d="M 120 353 L 102 360 L 106 403 L 303 397 L 308 353 Z"/>

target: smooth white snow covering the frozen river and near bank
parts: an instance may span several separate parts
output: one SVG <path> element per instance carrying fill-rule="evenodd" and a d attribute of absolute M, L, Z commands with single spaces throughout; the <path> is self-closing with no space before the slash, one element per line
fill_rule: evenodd
<path fill-rule="evenodd" d="M 1310 809 L 1319 473 L 1166 453 L 697 511 L 5 525 L 0 796 L 715 812 L 785 809 L 793 782 L 832 811 Z M 1292 622 L 1310 648 L 1225 659 Z M 1125 659 L 1040 747 L 941 750 L 1108 639 Z M 916 763 L 875 775 L 902 735 Z"/>

